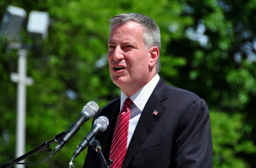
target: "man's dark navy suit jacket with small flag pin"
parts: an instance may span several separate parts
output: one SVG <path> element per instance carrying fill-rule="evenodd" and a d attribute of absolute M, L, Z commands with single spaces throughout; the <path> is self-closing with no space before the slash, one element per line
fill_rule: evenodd
<path fill-rule="evenodd" d="M 156 116 L 152 115 L 157 110 Z M 98 111 L 109 119 L 96 136 L 107 160 L 120 111 L 120 98 Z M 111 165 L 110 165 L 111 166 Z M 84 168 L 103 168 L 99 154 L 88 147 Z M 212 168 L 212 134 L 207 104 L 196 94 L 172 87 L 160 78 L 131 138 L 122 168 Z"/>

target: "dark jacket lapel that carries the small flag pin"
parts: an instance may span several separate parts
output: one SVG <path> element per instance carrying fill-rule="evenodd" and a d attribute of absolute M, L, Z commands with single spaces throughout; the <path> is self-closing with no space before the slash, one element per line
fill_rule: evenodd
<path fill-rule="evenodd" d="M 141 113 L 139 122 L 134 130 L 130 145 L 127 149 L 122 168 L 128 167 L 134 155 L 143 145 L 143 142 L 148 137 L 154 125 L 156 125 L 158 119 L 164 112 L 165 106 L 161 102 L 168 97 L 167 90 L 168 85 L 163 81 L 162 78 L 160 78 L 160 81 L 158 82 L 151 96 L 148 98 L 143 112 Z M 156 116 L 152 115 L 154 110 L 158 111 Z"/>

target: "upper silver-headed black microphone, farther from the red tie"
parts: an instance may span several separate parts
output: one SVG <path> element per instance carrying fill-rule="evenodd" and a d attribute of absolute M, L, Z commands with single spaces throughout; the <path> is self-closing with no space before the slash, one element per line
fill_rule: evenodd
<path fill-rule="evenodd" d="M 61 148 L 65 144 L 67 144 L 67 142 L 69 142 L 69 140 L 73 138 L 73 136 L 80 130 L 80 127 L 85 122 L 87 122 L 92 116 L 95 116 L 98 110 L 99 106 L 94 101 L 90 101 L 89 103 L 85 104 L 79 118 L 69 127 L 69 129 L 61 139 L 61 142 L 59 142 L 59 144 L 55 147 L 54 151 L 52 152 L 52 156 L 55 155 L 58 151 L 60 151 Z"/>

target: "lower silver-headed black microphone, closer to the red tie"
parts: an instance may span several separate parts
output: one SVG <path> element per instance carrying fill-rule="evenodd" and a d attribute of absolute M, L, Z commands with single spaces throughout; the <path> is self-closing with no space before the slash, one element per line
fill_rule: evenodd
<path fill-rule="evenodd" d="M 105 131 L 108 127 L 108 124 L 109 122 L 107 117 L 100 116 L 97 118 L 94 121 L 90 132 L 84 137 L 84 140 L 76 148 L 76 151 L 73 153 L 73 158 L 76 158 L 82 151 L 84 151 L 88 145 L 92 144 L 92 142 L 95 140 L 95 136 Z"/>

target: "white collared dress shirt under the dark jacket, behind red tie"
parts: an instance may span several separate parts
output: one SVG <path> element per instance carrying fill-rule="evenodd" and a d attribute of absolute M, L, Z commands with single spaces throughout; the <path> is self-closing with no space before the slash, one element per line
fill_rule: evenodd
<path fill-rule="evenodd" d="M 128 129 L 128 140 L 127 140 L 127 148 L 131 142 L 131 137 L 134 133 L 134 130 L 138 124 L 140 119 L 140 115 L 145 107 L 146 102 L 148 101 L 149 96 L 153 92 L 154 88 L 156 87 L 160 77 L 159 75 L 155 75 L 151 81 L 149 81 L 145 86 L 143 86 L 140 90 L 138 90 L 134 95 L 130 98 L 134 102 L 131 107 L 131 116 L 129 121 L 129 129 Z M 121 90 L 121 104 L 120 104 L 120 111 L 122 110 L 122 106 L 125 102 L 125 99 L 128 98 L 122 90 Z"/>

